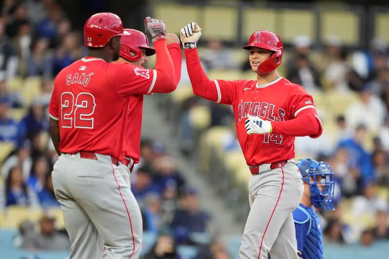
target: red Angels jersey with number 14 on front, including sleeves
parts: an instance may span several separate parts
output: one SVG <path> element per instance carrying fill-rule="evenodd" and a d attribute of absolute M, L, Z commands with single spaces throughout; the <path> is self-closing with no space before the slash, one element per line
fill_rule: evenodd
<path fill-rule="evenodd" d="M 254 80 L 210 81 L 199 70 L 195 49 L 185 50 L 185 57 L 195 94 L 218 104 L 232 105 L 238 141 L 248 165 L 291 159 L 295 156 L 296 136 L 321 135 L 322 126 L 312 96 L 302 86 L 282 77 L 263 86 Z M 273 133 L 248 135 L 245 128 L 248 114 L 273 121 Z M 299 117 L 304 123 L 298 123 Z M 293 131 L 283 125 L 291 120 L 296 120 L 289 127 Z"/>

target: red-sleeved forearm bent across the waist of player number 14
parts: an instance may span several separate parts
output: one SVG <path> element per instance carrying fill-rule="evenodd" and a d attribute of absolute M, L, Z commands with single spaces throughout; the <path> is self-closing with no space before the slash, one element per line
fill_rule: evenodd
<path fill-rule="evenodd" d="M 295 137 L 310 136 L 318 138 L 322 132 L 322 126 L 318 117 L 312 113 L 301 114 L 290 121 L 272 121 L 272 133 L 284 134 Z"/>

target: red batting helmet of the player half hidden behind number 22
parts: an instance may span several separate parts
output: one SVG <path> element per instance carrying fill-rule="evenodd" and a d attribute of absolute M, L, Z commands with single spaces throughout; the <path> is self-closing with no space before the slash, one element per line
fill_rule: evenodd
<path fill-rule="evenodd" d="M 146 35 L 140 31 L 124 29 L 120 42 L 122 43 L 120 56 L 128 61 L 137 61 L 141 58 L 142 51 L 140 48 L 145 49 L 146 56 L 155 54 L 155 50 L 149 46 Z M 131 54 L 131 52 L 135 53 L 135 55 Z"/>

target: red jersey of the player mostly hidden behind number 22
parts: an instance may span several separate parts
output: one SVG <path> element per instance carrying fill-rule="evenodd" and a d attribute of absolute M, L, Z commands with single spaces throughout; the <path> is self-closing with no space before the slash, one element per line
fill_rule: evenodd
<path fill-rule="evenodd" d="M 181 50 L 178 43 L 167 46 L 172 58 L 175 74 L 175 85 L 177 86 L 181 77 Z M 139 67 L 141 69 L 141 67 Z M 154 92 L 154 91 L 151 91 Z M 139 162 L 141 155 L 141 126 L 142 126 L 143 95 L 131 95 L 127 103 L 127 128 L 124 141 L 124 156 L 131 157 L 134 163 Z"/>

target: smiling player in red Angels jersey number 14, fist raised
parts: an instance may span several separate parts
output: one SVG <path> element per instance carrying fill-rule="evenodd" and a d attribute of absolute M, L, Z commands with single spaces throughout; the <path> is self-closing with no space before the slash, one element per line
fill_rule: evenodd
<path fill-rule="evenodd" d="M 181 29 L 181 41 L 193 92 L 233 107 L 237 136 L 249 171 L 250 213 L 239 250 L 241 259 L 296 259 L 292 211 L 303 184 L 293 160 L 297 136 L 317 138 L 322 125 L 312 97 L 277 72 L 283 56 L 278 35 L 257 31 L 243 48 L 249 51 L 257 80 L 208 79 L 201 68 L 196 42 L 201 29 L 194 22 Z"/>

